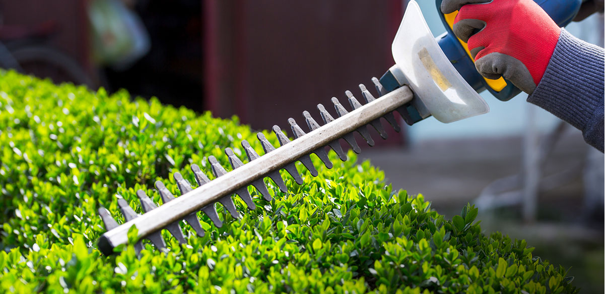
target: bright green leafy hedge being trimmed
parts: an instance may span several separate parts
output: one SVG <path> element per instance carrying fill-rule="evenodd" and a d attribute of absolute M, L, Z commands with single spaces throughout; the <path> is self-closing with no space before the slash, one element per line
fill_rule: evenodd
<path fill-rule="evenodd" d="M 483 235 L 473 206 L 444 219 L 353 153 L 331 153 L 332 170 L 313 158 L 320 175 L 303 172 L 304 185 L 287 176 L 287 195 L 266 181 L 270 202 L 250 189 L 255 211 L 234 198 L 240 221 L 218 204 L 224 226 L 200 215 L 206 236 L 183 224 L 186 246 L 164 231 L 166 253 L 95 248 L 99 205 L 122 222 L 116 194 L 140 212 L 136 189 L 160 202 L 162 179 L 178 195 L 172 173 L 194 182 L 189 165 L 208 173 L 209 155 L 227 167 L 225 147 L 244 159 L 241 139 L 262 154 L 253 137 L 237 118 L 0 72 L 0 293 L 577 292 L 525 241 Z"/>

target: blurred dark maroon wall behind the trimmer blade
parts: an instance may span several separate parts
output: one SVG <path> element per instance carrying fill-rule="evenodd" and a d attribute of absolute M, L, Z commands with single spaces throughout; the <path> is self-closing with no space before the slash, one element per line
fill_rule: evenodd
<path fill-rule="evenodd" d="M 361 99 L 358 84 L 370 88 L 394 63 L 401 16 L 401 0 L 207 0 L 206 109 L 256 129 L 287 129 L 290 117 L 305 125 L 303 110 L 321 120 L 316 104 L 348 105 L 345 90 Z"/>

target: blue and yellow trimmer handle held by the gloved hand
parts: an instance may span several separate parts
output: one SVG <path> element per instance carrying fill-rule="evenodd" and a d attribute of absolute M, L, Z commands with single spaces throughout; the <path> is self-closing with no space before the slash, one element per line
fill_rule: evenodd
<path fill-rule="evenodd" d="M 542 9 L 551 16 L 552 20 L 554 20 L 560 27 L 564 27 L 569 24 L 569 22 L 574 19 L 575 15 L 578 14 L 578 10 L 580 10 L 580 5 L 583 0 L 534 0 Z M 439 47 L 445 53 L 456 70 L 463 76 L 463 78 L 468 82 L 473 89 L 475 89 L 478 93 L 482 92 L 485 89 L 488 89 L 495 98 L 498 98 L 501 101 L 508 101 L 518 93 L 521 92 L 517 87 L 515 87 L 512 82 L 507 81 L 506 79 L 488 79 L 483 78 L 482 75 L 477 72 L 474 60 L 470 55 L 468 47 L 465 42 L 456 38 L 454 32 L 452 31 L 452 27 L 454 25 L 454 18 L 456 18 L 457 11 L 453 13 L 449 13 L 448 15 L 444 15 L 441 13 L 441 2 L 442 0 L 436 0 L 435 3 L 437 5 L 437 11 L 439 12 L 439 16 L 445 25 L 447 30 L 446 33 L 437 37 L 439 42 Z"/>

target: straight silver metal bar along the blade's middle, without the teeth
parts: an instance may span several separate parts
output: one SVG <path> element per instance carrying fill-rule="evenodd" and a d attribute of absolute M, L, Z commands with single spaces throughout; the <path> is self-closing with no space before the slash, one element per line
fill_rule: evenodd
<path fill-rule="evenodd" d="M 352 110 L 328 124 L 322 125 L 278 149 L 260 158 L 242 165 L 223 176 L 201 185 L 191 192 L 166 202 L 157 209 L 131 219 L 124 224 L 105 232 L 98 241 L 99 250 L 111 254 L 120 244 L 128 242 L 128 230 L 136 225 L 139 239 L 157 232 L 162 228 L 180 221 L 191 213 L 195 213 L 206 205 L 217 202 L 225 195 L 230 195 L 241 187 L 281 169 L 284 165 L 294 162 L 302 156 L 309 155 L 314 150 L 338 140 L 364 125 L 379 119 L 381 116 L 396 110 L 413 99 L 410 88 L 403 86 L 358 109 Z"/>

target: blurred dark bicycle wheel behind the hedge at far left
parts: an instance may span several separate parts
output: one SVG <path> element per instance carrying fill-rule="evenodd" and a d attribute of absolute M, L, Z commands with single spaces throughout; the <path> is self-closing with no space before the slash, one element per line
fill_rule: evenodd
<path fill-rule="evenodd" d="M 11 48 L 10 53 L 21 65 L 22 72 L 53 82 L 73 82 L 77 85 L 94 84 L 90 76 L 70 56 L 47 45 L 24 45 Z"/>

